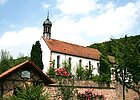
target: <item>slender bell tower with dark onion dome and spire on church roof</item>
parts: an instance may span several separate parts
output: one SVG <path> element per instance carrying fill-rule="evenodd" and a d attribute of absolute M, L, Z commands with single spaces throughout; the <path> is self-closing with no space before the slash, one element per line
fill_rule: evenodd
<path fill-rule="evenodd" d="M 51 27 L 52 23 L 49 20 L 49 12 L 48 12 L 47 19 L 43 22 L 43 37 L 51 39 Z"/>

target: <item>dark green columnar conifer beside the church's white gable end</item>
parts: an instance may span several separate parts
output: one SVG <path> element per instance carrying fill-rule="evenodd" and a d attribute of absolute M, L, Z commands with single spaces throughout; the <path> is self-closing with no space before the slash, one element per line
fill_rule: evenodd
<path fill-rule="evenodd" d="M 43 62 L 42 62 L 42 50 L 39 41 L 36 41 L 32 46 L 31 50 L 31 60 L 37 65 L 41 70 L 43 70 Z"/>

